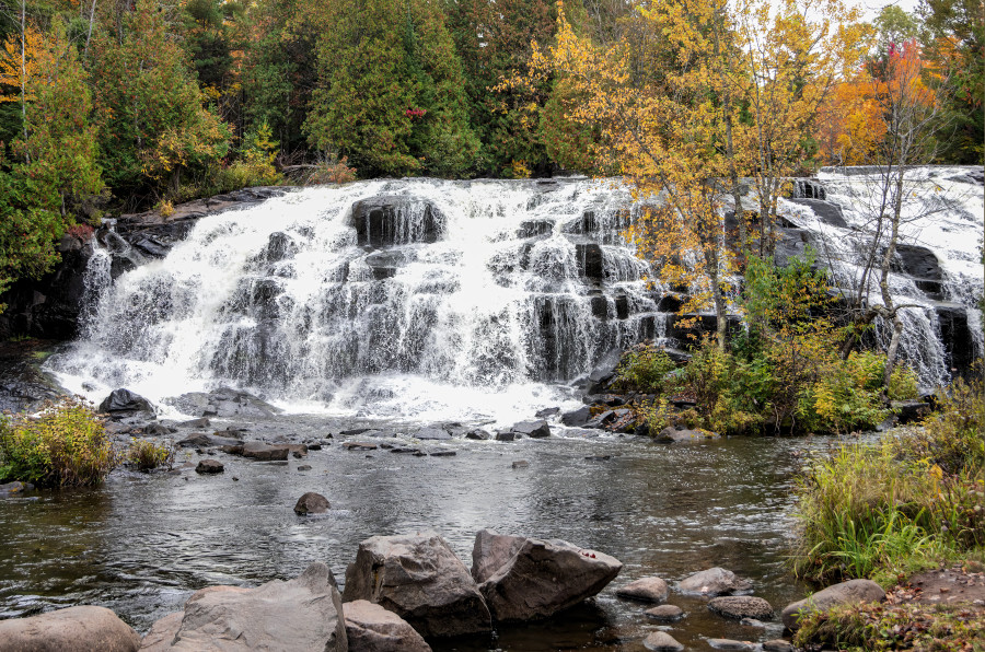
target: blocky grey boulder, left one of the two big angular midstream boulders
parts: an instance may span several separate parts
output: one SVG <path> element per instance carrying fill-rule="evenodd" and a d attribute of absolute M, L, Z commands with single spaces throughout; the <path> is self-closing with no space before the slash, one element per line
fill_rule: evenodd
<path fill-rule="evenodd" d="M 493 630 L 489 609 L 465 564 L 434 533 L 374 536 L 346 569 L 346 602 L 367 599 L 425 637 Z"/>

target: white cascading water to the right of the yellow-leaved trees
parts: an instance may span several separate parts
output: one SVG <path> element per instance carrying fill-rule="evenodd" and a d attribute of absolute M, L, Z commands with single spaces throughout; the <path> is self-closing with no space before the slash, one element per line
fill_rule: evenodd
<path fill-rule="evenodd" d="M 985 350 L 977 306 L 983 287 L 985 195 L 981 179 L 971 176 L 975 172 L 981 175 L 981 168 L 934 166 L 905 174 L 899 268 L 890 275 L 889 286 L 896 305 L 914 306 L 900 313 L 904 324 L 900 356 L 917 371 L 924 391 L 951 377 L 954 361 L 942 339 L 971 339 L 973 357 Z M 811 188 L 802 196 L 823 197 L 837 205 L 844 222 L 825 219 L 822 211 L 793 201 L 781 201 L 781 212 L 811 232 L 820 261 L 831 266 L 842 288 L 864 291 L 858 282 L 862 258 L 872 246 L 882 178 L 874 168 L 849 167 L 822 170 L 819 179 L 823 194 Z M 885 236 L 883 245 L 884 242 Z M 915 260 L 911 261 L 913 257 Z M 872 303 L 882 303 L 878 273 L 869 279 L 868 298 Z M 941 314 L 961 317 L 957 333 L 942 337 Z M 890 328 L 877 319 L 874 335 L 885 346 Z"/>

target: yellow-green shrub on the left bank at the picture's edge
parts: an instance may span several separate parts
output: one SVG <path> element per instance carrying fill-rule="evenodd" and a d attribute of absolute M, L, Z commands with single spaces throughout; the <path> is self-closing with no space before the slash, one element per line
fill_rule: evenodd
<path fill-rule="evenodd" d="M 80 398 L 46 403 L 37 417 L 0 419 L 0 480 L 97 485 L 117 462 L 102 419 Z"/>

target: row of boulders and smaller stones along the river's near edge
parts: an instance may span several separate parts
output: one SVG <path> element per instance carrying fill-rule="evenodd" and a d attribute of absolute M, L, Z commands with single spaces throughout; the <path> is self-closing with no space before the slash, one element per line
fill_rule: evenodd
<path fill-rule="evenodd" d="M 97 606 L 3 620 L 0 652 L 427 652 L 426 639 L 488 633 L 496 622 L 551 617 L 598 594 L 622 568 L 609 555 L 567 542 L 483 529 L 470 572 L 438 534 L 374 536 L 359 544 L 341 593 L 328 567 L 315 562 L 289 581 L 197 591 L 183 612 L 154 622 L 142 639 L 112 610 Z M 741 593 L 749 584 L 714 568 L 682 580 L 677 589 L 712 596 Z M 853 597 L 882 599 L 876 589 L 878 596 L 855 591 Z M 637 580 L 616 592 L 656 603 L 663 603 L 668 593 L 659 578 Z M 785 625 L 796 627 L 801 609 L 834 604 L 824 593 L 787 607 Z M 708 607 L 731 618 L 773 617 L 766 601 L 748 595 L 712 597 Z M 672 605 L 647 614 L 663 621 L 683 617 Z M 729 643 L 708 642 L 719 648 Z M 664 631 L 650 633 L 642 644 L 652 651 L 684 649 Z M 784 640 L 763 644 L 770 652 L 791 649 Z"/>

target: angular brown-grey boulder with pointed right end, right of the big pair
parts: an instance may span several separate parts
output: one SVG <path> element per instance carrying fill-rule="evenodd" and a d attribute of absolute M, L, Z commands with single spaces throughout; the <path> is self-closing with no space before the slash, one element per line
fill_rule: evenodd
<path fill-rule="evenodd" d="M 476 535 L 473 568 L 484 579 L 479 591 L 493 617 L 515 622 L 547 618 L 595 595 L 623 564 L 568 542 L 484 529 Z"/>

